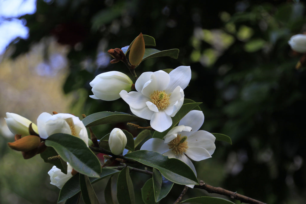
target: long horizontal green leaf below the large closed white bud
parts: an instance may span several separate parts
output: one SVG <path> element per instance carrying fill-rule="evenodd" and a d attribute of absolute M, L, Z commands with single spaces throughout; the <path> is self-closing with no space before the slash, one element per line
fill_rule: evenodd
<path fill-rule="evenodd" d="M 110 123 L 125 123 L 131 121 L 145 121 L 145 120 L 137 116 L 132 116 L 128 113 L 122 113 L 117 111 L 116 112 L 103 111 L 103 112 L 93 113 L 82 120 L 83 124 L 87 128 L 95 125 L 110 124 Z"/>

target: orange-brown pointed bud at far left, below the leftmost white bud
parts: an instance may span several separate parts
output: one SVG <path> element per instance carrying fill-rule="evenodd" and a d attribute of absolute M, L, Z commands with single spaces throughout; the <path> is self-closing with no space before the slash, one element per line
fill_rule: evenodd
<path fill-rule="evenodd" d="M 37 148 L 40 144 L 40 138 L 35 135 L 24 136 L 15 142 L 7 143 L 10 148 L 17 151 L 30 151 Z"/>

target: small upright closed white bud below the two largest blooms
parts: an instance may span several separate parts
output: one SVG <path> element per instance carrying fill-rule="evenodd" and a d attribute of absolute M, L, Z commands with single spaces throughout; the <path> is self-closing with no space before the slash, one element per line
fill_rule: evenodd
<path fill-rule="evenodd" d="M 113 154 L 120 154 L 126 145 L 127 139 L 124 132 L 119 128 L 114 128 L 110 132 L 110 138 L 108 139 L 108 144 L 110 146 L 110 151 Z"/>

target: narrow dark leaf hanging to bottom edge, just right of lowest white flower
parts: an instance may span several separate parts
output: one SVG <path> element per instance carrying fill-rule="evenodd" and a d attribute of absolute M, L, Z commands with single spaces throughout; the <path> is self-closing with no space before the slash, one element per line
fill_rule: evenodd
<path fill-rule="evenodd" d="M 79 179 L 83 201 L 86 204 L 99 204 L 99 200 L 97 198 L 97 195 L 95 194 L 94 189 L 91 186 L 88 176 L 80 174 Z"/>

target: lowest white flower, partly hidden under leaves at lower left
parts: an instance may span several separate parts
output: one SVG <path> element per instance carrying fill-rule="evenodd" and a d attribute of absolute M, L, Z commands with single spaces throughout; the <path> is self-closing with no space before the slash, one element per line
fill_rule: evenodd
<path fill-rule="evenodd" d="M 76 172 L 74 172 L 75 174 Z M 59 189 L 62 189 L 64 184 L 73 176 L 72 175 L 72 166 L 67 162 L 67 174 L 64 174 L 61 169 L 53 166 L 52 169 L 48 172 L 50 176 L 50 184 L 57 186 Z"/>

